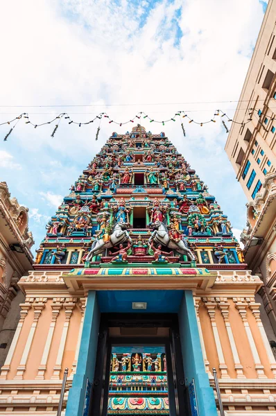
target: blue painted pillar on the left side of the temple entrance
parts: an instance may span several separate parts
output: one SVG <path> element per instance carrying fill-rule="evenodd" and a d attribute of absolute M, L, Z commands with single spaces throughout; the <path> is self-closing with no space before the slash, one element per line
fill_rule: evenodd
<path fill-rule="evenodd" d="M 96 291 L 89 291 L 83 322 L 83 333 L 80 340 L 80 352 L 76 374 L 69 390 L 65 416 L 83 416 L 86 379 L 94 377 L 96 352 L 98 344 L 98 327 L 100 323 Z"/>

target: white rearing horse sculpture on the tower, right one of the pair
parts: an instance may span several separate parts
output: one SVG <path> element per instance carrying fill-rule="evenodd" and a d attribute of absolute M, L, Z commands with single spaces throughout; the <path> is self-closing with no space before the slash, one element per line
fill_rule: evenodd
<path fill-rule="evenodd" d="M 163 244 L 168 248 L 176 250 L 180 254 L 186 254 L 190 260 L 196 260 L 196 257 L 194 257 L 193 253 L 191 250 L 189 250 L 187 245 L 185 245 L 183 240 L 180 240 L 176 243 L 170 239 L 168 230 L 164 223 L 157 220 L 155 223 L 151 223 L 148 226 L 154 229 L 153 234 L 151 234 L 150 238 L 148 239 L 148 243 L 154 241 L 157 244 Z"/>

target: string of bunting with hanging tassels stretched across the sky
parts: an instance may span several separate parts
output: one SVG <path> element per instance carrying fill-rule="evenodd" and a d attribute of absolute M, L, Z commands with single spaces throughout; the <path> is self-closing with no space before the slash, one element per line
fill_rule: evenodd
<path fill-rule="evenodd" d="M 250 110 L 252 110 L 252 109 L 250 109 Z M 202 125 L 205 125 L 205 124 L 208 124 L 208 123 L 216 123 L 215 118 L 219 116 L 221 118 L 221 123 L 223 124 L 223 127 L 225 128 L 225 131 L 228 133 L 229 129 L 227 128 L 227 125 L 226 125 L 225 121 L 231 121 L 232 123 L 236 123 L 236 124 L 239 124 L 239 125 L 245 125 L 245 124 L 249 123 L 249 121 L 252 120 L 251 115 L 252 115 L 252 113 L 250 114 L 250 119 L 248 119 L 248 121 L 245 121 L 243 123 L 238 123 L 238 122 L 233 121 L 232 119 L 230 119 L 230 117 L 227 116 L 227 114 L 225 112 L 223 112 L 223 110 L 216 110 L 214 112 L 214 116 L 212 117 L 212 119 L 207 120 L 207 121 L 196 121 L 195 119 L 192 119 L 191 116 L 189 116 L 189 114 L 187 114 L 187 112 L 185 112 L 184 110 L 180 110 L 180 111 L 176 112 L 175 114 L 173 114 L 173 116 L 170 117 L 169 119 L 155 120 L 155 119 L 152 119 L 150 116 L 148 116 L 148 114 L 146 114 L 145 112 L 141 111 L 138 114 L 136 114 L 132 119 L 127 120 L 127 121 L 123 121 L 123 122 L 119 122 L 119 121 L 113 120 L 107 113 L 101 112 L 96 117 L 94 117 L 94 119 L 92 119 L 92 120 L 85 121 L 85 122 L 80 122 L 80 121 L 74 121 L 73 119 L 71 119 L 71 116 L 69 116 L 68 113 L 62 112 L 62 113 L 58 114 L 58 116 L 55 116 L 53 119 L 51 119 L 49 121 L 45 121 L 44 123 L 36 124 L 36 123 L 33 123 L 33 121 L 31 121 L 28 113 L 24 112 L 24 113 L 19 114 L 19 116 L 15 117 L 14 119 L 12 119 L 10 121 L 5 121 L 3 123 L 0 123 L 0 125 L 5 125 L 5 124 L 10 125 L 12 123 L 15 123 L 14 125 L 12 125 L 12 127 L 10 128 L 10 130 L 8 131 L 8 133 L 6 134 L 6 136 L 3 139 L 4 141 L 7 141 L 8 137 L 12 133 L 12 130 L 15 129 L 17 123 L 19 123 L 19 121 L 22 120 L 22 119 L 25 120 L 26 124 L 33 125 L 34 128 L 41 127 L 42 125 L 46 125 L 46 124 L 55 123 L 55 128 L 53 129 L 53 132 L 51 134 L 51 137 L 54 137 L 55 132 L 58 130 L 58 126 L 60 125 L 60 121 L 62 119 L 67 120 L 69 124 L 77 124 L 79 127 L 81 127 L 82 125 L 87 125 L 87 124 L 90 124 L 90 123 L 94 123 L 94 121 L 97 121 L 97 120 L 99 120 L 100 123 L 101 123 L 101 120 L 107 119 L 107 121 L 110 124 L 114 123 L 114 124 L 117 124 L 121 127 L 122 125 L 126 125 L 128 123 L 134 123 L 135 119 L 147 119 L 147 120 L 150 121 L 150 123 L 159 123 L 159 124 L 165 125 L 165 123 L 169 123 L 171 121 L 176 121 L 177 118 L 180 117 L 180 119 L 182 119 L 182 118 L 187 119 L 189 121 L 189 123 L 194 123 L 194 124 L 200 125 L 202 127 Z M 225 120 L 223 119 L 223 117 L 225 117 Z M 181 127 L 182 127 L 182 131 L 183 131 L 183 135 L 185 137 L 186 132 L 185 132 L 185 129 L 184 129 L 183 121 L 181 123 Z M 97 132 L 96 132 L 96 140 L 98 139 L 99 131 L 100 131 L 100 125 L 98 126 L 98 129 L 97 129 Z"/>

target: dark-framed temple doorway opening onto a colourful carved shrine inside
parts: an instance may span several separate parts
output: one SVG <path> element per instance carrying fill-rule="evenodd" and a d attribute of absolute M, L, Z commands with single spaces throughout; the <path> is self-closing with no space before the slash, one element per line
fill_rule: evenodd
<path fill-rule="evenodd" d="M 89 416 L 191 414 L 174 313 L 103 313 L 96 357 Z"/>

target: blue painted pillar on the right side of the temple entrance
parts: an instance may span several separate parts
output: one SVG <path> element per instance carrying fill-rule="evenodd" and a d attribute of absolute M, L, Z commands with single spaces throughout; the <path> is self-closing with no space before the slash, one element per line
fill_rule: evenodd
<path fill-rule="evenodd" d="M 209 377 L 205 372 L 202 357 L 198 322 L 193 304 L 193 293 L 184 291 L 178 312 L 184 375 L 187 384 L 195 380 L 200 416 L 217 416 L 213 389 L 209 385 Z"/>

